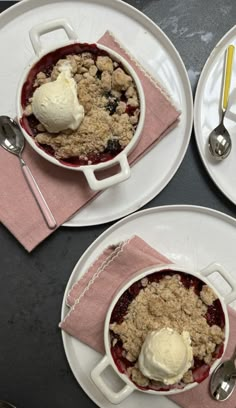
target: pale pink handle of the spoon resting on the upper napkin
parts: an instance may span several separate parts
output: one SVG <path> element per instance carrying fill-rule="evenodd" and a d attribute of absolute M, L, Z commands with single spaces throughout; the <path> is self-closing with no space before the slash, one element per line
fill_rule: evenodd
<path fill-rule="evenodd" d="M 34 195 L 35 200 L 37 201 L 37 204 L 44 216 L 44 219 L 50 229 L 54 229 L 57 226 L 56 220 L 53 217 L 46 201 L 45 198 L 43 197 L 43 194 L 41 193 L 38 184 L 36 183 L 29 167 L 25 164 L 24 160 L 20 158 L 21 161 L 21 166 L 22 166 L 22 171 L 24 173 L 24 176 L 28 182 L 28 185 Z"/>

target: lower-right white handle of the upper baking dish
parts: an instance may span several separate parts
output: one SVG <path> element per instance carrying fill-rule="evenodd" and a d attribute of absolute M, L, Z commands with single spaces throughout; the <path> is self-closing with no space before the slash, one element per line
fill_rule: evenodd
<path fill-rule="evenodd" d="M 113 164 L 120 165 L 120 172 L 114 174 L 113 176 L 106 177 L 102 180 L 98 180 L 95 175 L 96 169 L 91 167 L 85 167 L 83 169 L 84 175 L 88 181 L 89 187 L 94 191 L 104 190 L 105 188 L 111 187 L 115 184 L 121 183 L 122 181 L 130 177 L 130 166 L 125 154 L 117 156 L 116 161 Z"/>

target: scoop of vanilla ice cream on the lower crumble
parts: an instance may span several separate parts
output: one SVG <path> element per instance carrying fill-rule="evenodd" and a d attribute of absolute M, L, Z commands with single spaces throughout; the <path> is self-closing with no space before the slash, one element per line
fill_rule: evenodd
<path fill-rule="evenodd" d="M 193 352 L 187 331 L 164 328 L 150 332 L 143 343 L 138 365 L 147 378 L 175 384 L 191 367 Z"/>

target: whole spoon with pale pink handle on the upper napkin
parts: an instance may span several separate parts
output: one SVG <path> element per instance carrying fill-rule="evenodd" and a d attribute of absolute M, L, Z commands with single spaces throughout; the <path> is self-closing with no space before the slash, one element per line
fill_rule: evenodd
<path fill-rule="evenodd" d="M 24 176 L 48 227 L 50 229 L 56 228 L 56 220 L 53 217 L 29 167 L 25 164 L 24 160 L 21 157 L 25 145 L 24 136 L 18 124 L 8 116 L 0 116 L 0 145 L 8 152 L 13 153 L 19 157 Z"/>

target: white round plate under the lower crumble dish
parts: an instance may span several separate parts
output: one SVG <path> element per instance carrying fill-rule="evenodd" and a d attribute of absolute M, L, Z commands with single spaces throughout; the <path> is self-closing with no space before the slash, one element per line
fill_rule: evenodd
<path fill-rule="evenodd" d="M 134 234 L 162 252 L 177 264 L 199 270 L 213 261 L 220 262 L 236 279 L 236 220 L 217 211 L 194 206 L 165 206 L 140 211 L 117 222 L 105 231 L 86 250 L 76 264 L 67 284 L 62 303 L 61 318 L 68 313 L 68 290 L 94 262 L 97 256 L 112 243 Z M 222 282 L 213 276 L 213 284 L 222 292 Z M 225 289 L 225 287 L 224 287 Z M 236 308 L 236 304 L 232 304 Z M 72 372 L 87 395 L 101 408 L 113 408 L 90 379 L 90 372 L 101 355 L 75 338 L 62 332 L 65 353 Z M 110 380 L 118 385 L 118 377 L 111 371 Z M 165 397 L 134 392 L 120 408 L 176 407 Z"/>

